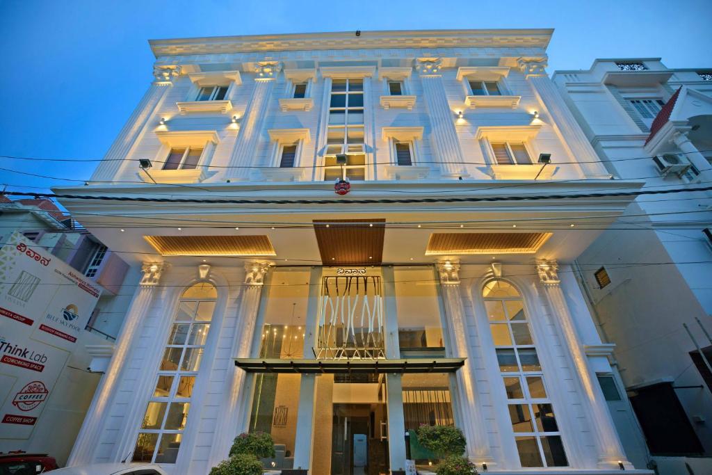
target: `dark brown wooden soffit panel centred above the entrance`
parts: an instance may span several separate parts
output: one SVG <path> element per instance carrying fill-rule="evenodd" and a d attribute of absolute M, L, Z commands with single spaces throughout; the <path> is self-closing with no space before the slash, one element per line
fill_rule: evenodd
<path fill-rule="evenodd" d="M 385 219 L 313 221 L 325 266 L 379 265 L 383 261 Z"/>

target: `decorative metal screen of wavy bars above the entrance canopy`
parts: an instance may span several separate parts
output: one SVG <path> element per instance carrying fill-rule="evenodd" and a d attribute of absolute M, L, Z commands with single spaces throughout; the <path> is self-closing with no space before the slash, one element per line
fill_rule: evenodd
<path fill-rule="evenodd" d="M 384 358 L 383 294 L 379 276 L 325 277 L 318 318 L 317 358 Z"/>

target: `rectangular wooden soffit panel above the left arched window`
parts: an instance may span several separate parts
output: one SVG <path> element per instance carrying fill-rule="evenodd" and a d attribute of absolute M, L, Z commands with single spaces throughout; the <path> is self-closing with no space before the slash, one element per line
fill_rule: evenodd
<path fill-rule="evenodd" d="M 267 236 L 144 236 L 162 256 L 276 256 Z"/>

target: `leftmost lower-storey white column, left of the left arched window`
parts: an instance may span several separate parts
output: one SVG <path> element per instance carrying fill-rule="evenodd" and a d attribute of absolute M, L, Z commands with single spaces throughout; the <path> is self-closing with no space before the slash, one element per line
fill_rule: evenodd
<path fill-rule="evenodd" d="M 116 338 L 114 355 L 103 375 L 94 398 L 74 443 L 67 466 L 90 464 L 97 447 L 104 422 L 108 417 L 111 400 L 119 383 L 122 367 L 127 362 L 127 354 L 139 336 L 139 330 L 154 298 L 161 274 L 167 265 L 163 262 L 145 262 L 141 268 L 143 277 L 136 289 L 124 323 Z"/>

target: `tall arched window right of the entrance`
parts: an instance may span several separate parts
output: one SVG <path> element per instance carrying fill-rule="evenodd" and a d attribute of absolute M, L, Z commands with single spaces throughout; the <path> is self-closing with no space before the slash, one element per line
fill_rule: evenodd
<path fill-rule="evenodd" d="M 522 296 L 511 283 L 482 289 L 523 467 L 568 466 Z"/>

